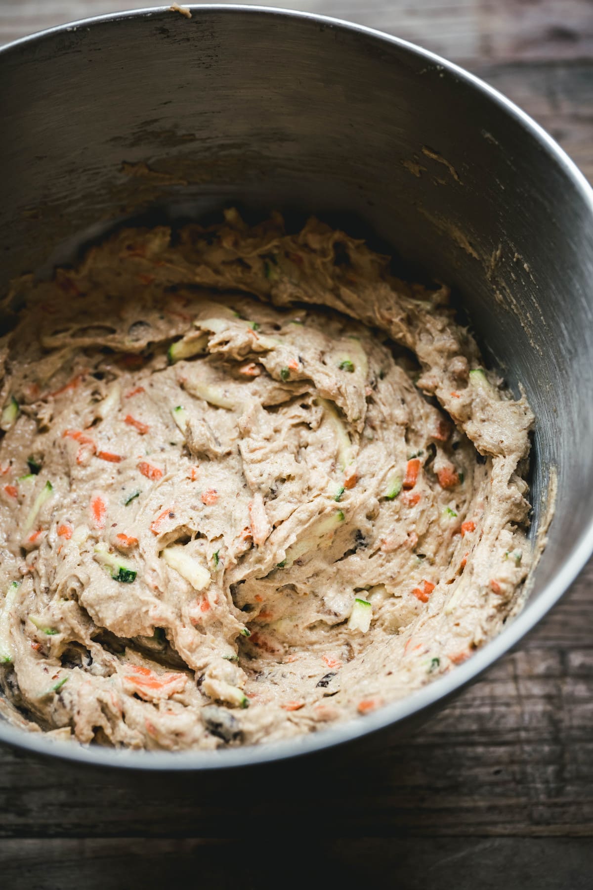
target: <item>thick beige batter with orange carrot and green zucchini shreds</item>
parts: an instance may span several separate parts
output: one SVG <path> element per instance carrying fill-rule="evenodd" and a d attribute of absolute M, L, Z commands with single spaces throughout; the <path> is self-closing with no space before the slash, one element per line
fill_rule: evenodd
<path fill-rule="evenodd" d="M 517 606 L 533 417 L 445 287 L 230 210 L 13 296 L 0 656 L 32 728 L 283 739 L 428 683 Z"/>

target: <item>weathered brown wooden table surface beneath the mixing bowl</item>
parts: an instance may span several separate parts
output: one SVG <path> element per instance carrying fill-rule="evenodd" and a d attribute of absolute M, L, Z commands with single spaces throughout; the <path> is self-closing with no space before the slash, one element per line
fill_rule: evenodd
<path fill-rule="evenodd" d="M 0 0 L 0 43 L 145 5 Z M 294 5 L 460 62 L 593 180 L 591 0 Z M 0 886 L 593 887 L 592 593 L 593 562 L 517 651 L 415 736 L 372 755 L 158 781 L 0 749 Z"/>

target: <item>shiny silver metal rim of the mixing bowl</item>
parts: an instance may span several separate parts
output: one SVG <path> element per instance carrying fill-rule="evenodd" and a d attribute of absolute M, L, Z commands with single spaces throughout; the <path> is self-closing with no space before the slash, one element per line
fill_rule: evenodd
<path fill-rule="evenodd" d="M 385 34 L 376 28 L 367 28 L 342 19 L 330 16 L 317 15 L 312 12 L 298 12 L 296 10 L 279 9 L 274 6 L 252 6 L 244 4 L 182 4 L 193 15 L 201 15 L 207 12 L 221 12 L 233 14 L 242 12 L 253 15 L 273 15 L 287 20 L 307 20 L 317 25 L 328 28 L 346 30 L 360 36 L 381 41 L 381 43 L 397 46 L 405 53 L 421 57 L 431 65 L 438 66 L 442 71 L 457 78 L 466 85 L 473 87 L 477 93 L 481 93 L 486 99 L 504 110 L 522 125 L 525 134 L 531 135 L 539 143 L 549 157 L 549 162 L 562 168 L 565 175 L 571 180 L 574 189 L 581 194 L 583 202 L 589 206 L 591 220 L 593 222 L 593 190 L 589 182 L 581 174 L 565 151 L 552 139 L 552 137 L 532 117 L 529 117 L 522 109 L 518 108 L 498 90 L 485 83 L 479 77 L 470 74 L 459 65 L 447 61 L 437 53 L 423 49 L 400 37 Z M 116 22 L 128 19 L 149 19 L 153 15 L 160 15 L 173 11 L 169 6 L 147 7 L 137 10 L 108 13 L 92 16 L 88 19 L 80 19 L 67 22 L 54 28 L 46 28 L 35 34 L 20 37 L 9 44 L 0 47 L 0 57 L 6 53 L 18 50 L 20 46 L 31 42 L 42 42 L 45 38 L 56 34 L 67 34 L 78 28 L 89 28 L 102 22 Z M 179 13 L 177 13 L 179 14 Z M 236 768 L 242 766 L 259 765 L 285 760 L 294 756 L 313 754 L 324 748 L 333 748 L 346 742 L 370 735 L 389 725 L 397 724 L 408 717 L 421 714 L 422 711 L 437 705 L 439 700 L 445 700 L 454 692 L 458 692 L 463 686 L 471 683 L 482 674 L 502 655 L 516 645 L 533 627 L 547 614 L 560 597 L 564 595 L 574 578 L 581 571 L 589 556 L 593 553 L 593 508 L 591 517 L 585 530 L 581 534 L 581 540 L 573 548 L 572 554 L 565 560 L 562 568 L 557 572 L 548 584 L 541 588 L 535 600 L 528 600 L 525 608 L 517 617 L 505 627 L 499 635 L 493 638 L 482 649 L 478 650 L 471 659 L 464 664 L 455 667 L 449 674 L 442 676 L 433 683 L 424 686 L 417 692 L 397 700 L 365 717 L 359 717 L 332 729 L 321 732 L 309 733 L 296 739 L 282 742 L 261 743 L 259 745 L 244 746 L 242 748 L 218 749 L 215 751 L 179 751 L 161 752 L 144 750 L 123 750 L 114 748 L 100 748 L 99 746 L 83 746 L 71 741 L 53 740 L 44 733 L 26 732 L 0 721 L 0 742 L 21 748 L 31 753 L 45 756 L 55 756 L 62 760 L 81 765 L 109 766 L 116 768 L 148 771 L 212 771 L 219 769 Z"/>

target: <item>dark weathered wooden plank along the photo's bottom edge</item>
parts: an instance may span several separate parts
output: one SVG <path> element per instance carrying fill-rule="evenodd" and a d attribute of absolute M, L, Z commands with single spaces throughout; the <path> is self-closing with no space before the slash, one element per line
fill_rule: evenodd
<path fill-rule="evenodd" d="M 241 839 L 210 841 L 19 840 L 0 846 L 0 863 L 5 886 L 35 890 L 160 890 L 165 879 L 169 886 L 189 879 L 189 886 L 219 890 L 317 886 L 327 878 L 333 886 L 359 880 L 363 886 L 385 886 L 388 876 L 390 884 L 405 890 L 588 890 L 593 864 L 591 847 L 571 839 L 308 837 L 301 849 L 286 838 L 276 849 L 267 844 L 264 853 L 264 837 L 262 827 L 247 829 Z"/>

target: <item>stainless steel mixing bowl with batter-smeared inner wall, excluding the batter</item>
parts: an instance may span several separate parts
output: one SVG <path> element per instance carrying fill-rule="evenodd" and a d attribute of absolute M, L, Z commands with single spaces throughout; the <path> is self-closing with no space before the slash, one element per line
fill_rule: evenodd
<path fill-rule="evenodd" d="M 541 128 L 476 77 L 345 22 L 242 6 L 87 20 L 0 52 L 0 292 L 117 220 L 231 202 L 333 214 L 453 285 L 494 366 L 525 387 L 533 535 L 556 513 L 517 619 L 465 664 L 355 723 L 214 753 L 0 740 L 92 764 L 212 769 L 401 731 L 537 624 L 593 548 L 593 195 Z"/>

